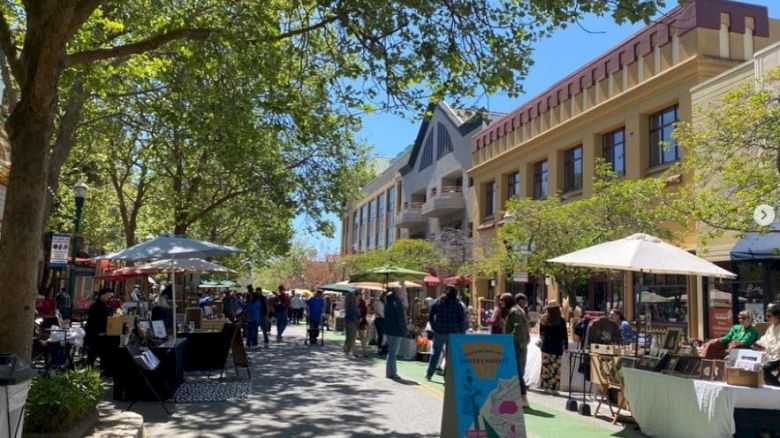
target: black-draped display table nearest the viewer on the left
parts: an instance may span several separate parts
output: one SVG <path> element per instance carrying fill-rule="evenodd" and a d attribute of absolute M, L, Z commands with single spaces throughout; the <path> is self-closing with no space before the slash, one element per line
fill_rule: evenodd
<path fill-rule="evenodd" d="M 160 365 L 153 372 L 145 372 L 149 383 L 163 400 L 173 396 L 184 382 L 184 357 L 187 340 L 177 339 L 151 347 L 149 350 L 160 359 Z M 134 368 L 135 364 L 127 348 L 119 348 L 115 361 L 114 399 L 115 400 L 156 400 Z"/>

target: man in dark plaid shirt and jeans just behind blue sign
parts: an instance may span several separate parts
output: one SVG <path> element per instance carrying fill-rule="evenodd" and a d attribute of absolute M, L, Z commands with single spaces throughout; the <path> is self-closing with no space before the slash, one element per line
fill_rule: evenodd
<path fill-rule="evenodd" d="M 444 295 L 431 304 L 428 322 L 435 333 L 433 354 L 428 362 L 428 371 L 425 373 L 425 378 L 431 380 L 439 364 L 441 351 L 449 344 L 450 335 L 466 333 L 466 312 L 458 301 L 458 290 L 454 286 L 447 286 Z"/>

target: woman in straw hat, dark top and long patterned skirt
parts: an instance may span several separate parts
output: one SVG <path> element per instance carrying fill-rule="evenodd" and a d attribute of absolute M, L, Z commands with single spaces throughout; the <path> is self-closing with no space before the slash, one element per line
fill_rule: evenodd
<path fill-rule="evenodd" d="M 547 303 L 547 310 L 539 320 L 542 338 L 543 390 L 555 392 L 561 386 L 561 356 L 569 345 L 566 321 L 561 317 L 561 306 L 556 300 Z"/>

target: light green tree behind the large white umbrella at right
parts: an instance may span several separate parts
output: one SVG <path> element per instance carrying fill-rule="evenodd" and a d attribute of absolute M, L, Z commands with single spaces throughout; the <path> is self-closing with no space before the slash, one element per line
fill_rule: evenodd
<path fill-rule="evenodd" d="M 507 203 L 512 219 L 497 237 L 506 247 L 504 263 L 513 271 L 554 277 L 574 300 L 592 270 L 547 260 L 639 232 L 674 240 L 686 218 L 662 202 L 668 190 L 663 178 L 620 178 L 599 162 L 589 198 L 512 199 Z"/>

